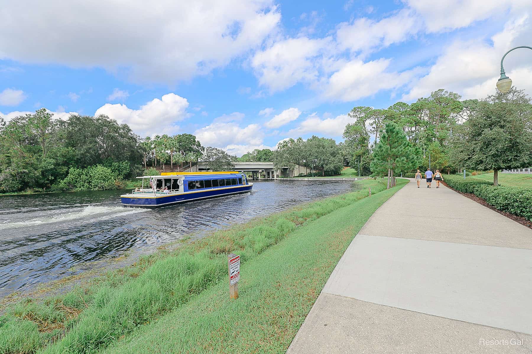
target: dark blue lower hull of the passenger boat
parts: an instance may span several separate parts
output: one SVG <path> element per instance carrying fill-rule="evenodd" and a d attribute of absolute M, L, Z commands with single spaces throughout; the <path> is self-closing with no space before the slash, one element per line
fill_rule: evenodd
<path fill-rule="evenodd" d="M 231 194 L 250 192 L 252 188 L 253 185 L 248 184 L 226 188 L 204 189 L 203 191 L 194 191 L 172 195 L 135 196 L 126 194 L 120 196 L 120 199 L 123 206 L 138 208 L 158 208 L 159 206 L 168 206 L 171 204 L 186 203 L 200 199 L 215 198 Z"/>

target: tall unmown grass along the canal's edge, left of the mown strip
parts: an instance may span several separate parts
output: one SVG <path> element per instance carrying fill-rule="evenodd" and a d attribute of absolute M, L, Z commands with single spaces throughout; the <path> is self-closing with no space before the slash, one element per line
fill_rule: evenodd
<path fill-rule="evenodd" d="M 127 338 L 224 280 L 229 252 L 240 254 L 245 266 L 298 226 L 356 204 L 367 196 L 368 187 L 377 195 L 385 188 L 376 180 L 360 184 L 363 189 L 358 192 L 221 230 L 171 252 L 162 249 L 66 294 L 20 301 L 0 317 L 0 352 L 85 353 Z M 372 196 L 371 201 L 377 200 Z M 350 215 L 347 220 L 354 217 Z"/>

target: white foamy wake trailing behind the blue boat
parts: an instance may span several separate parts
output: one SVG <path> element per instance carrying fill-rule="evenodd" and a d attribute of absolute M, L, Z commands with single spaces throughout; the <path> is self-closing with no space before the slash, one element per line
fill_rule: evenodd
<path fill-rule="evenodd" d="M 148 211 L 148 209 L 140 208 L 123 208 L 122 206 L 86 206 L 85 208 L 74 209 L 74 211 L 69 213 L 62 213 L 60 215 L 50 216 L 42 218 L 30 219 L 28 221 L 22 222 L 5 222 L 0 223 L 0 230 L 5 229 L 15 229 L 19 227 L 28 227 L 28 226 L 39 226 L 43 224 L 49 224 L 54 222 L 65 222 L 70 220 L 90 218 L 88 221 L 95 220 L 107 220 L 111 218 L 120 217 L 122 215 L 142 213 L 143 211 Z"/>

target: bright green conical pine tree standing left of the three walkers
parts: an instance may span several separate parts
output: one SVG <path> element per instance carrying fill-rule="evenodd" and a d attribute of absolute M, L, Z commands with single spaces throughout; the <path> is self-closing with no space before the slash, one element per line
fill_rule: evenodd
<path fill-rule="evenodd" d="M 417 153 L 406 139 L 400 126 L 393 122 L 386 123 L 380 132 L 380 140 L 373 150 L 371 171 L 373 175 L 388 175 L 386 188 L 395 186 L 395 176 L 417 165 Z"/>

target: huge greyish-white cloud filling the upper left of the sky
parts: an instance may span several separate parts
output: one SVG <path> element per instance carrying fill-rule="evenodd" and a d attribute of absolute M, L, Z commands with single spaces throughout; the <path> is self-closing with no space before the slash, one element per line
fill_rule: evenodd
<path fill-rule="evenodd" d="M 59 13 L 62 20 L 49 20 Z M 97 66 L 134 81 L 174 83 L 259 47 L 280 17 L 273 0 L 4 2 L 0 58 Z"/>

